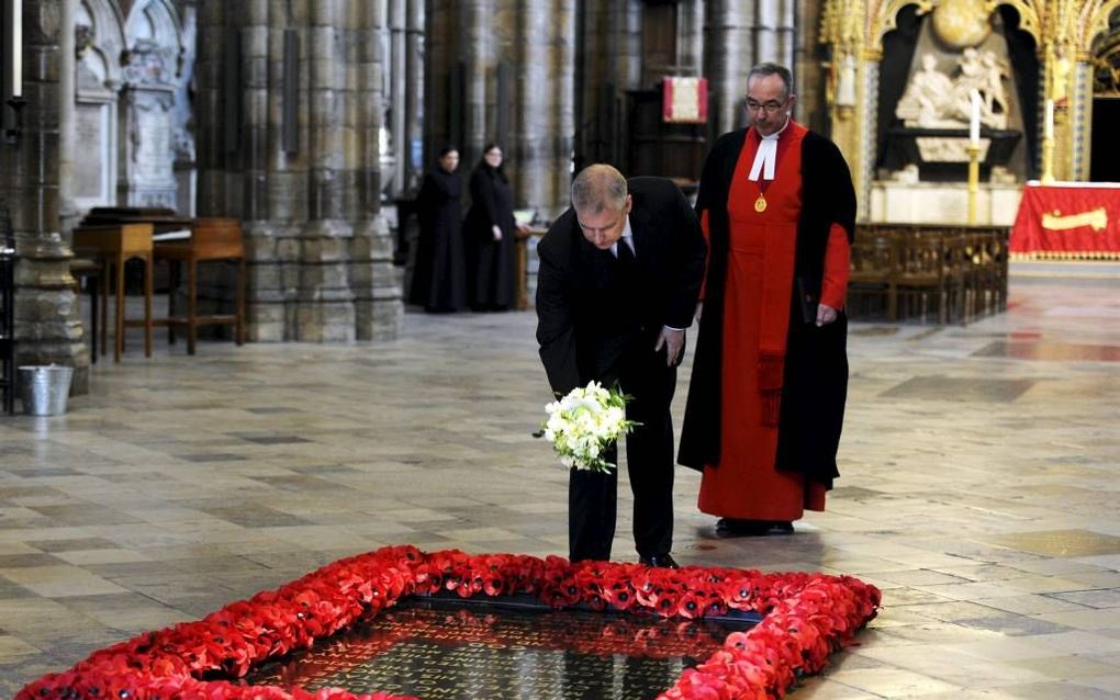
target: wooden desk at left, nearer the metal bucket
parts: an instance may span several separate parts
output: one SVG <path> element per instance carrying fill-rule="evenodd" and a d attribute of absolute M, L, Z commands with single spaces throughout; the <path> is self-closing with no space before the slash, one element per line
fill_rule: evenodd
<path fill-rule="evenodd" d="M 115 336 L 113 338 L 113 362 L 121 361 L 121 353 L 124 351 L 124 328 L 141 327 L 144 330 L 143 351 L 144 357 L 151 357 L 151 329 L 153 321 L 151 318 L 152 297 L 152 232 L 155 227 L 150 223 L 143 224 L 119 224 L 104 226 L 81 226 L 74 230 L 74 248 L 88 249 L 95 251 L 97 260 L 101 262 L 101 317 L 106 317 L 106 306 L 109 300 L 109 277 L 113 265 L 116 267 L 116 319 Z M 143 320 L 129 320 L 124 318 L 124 263 L 133 258 L 139 258 L 144 263 L 144 305 Z M 101 325 L 101 354 L 105 354 L 106 326 Z M 96 342 L 96 340 L 94 340 Z"/>

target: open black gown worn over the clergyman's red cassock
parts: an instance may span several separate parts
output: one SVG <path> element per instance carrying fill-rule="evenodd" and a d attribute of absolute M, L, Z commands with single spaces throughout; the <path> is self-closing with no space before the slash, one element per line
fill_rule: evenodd
<path fill-rule="evenodd" d="M 704 162 L 697 195 L 697 209 L 708 212 L 710 255 L 678 459 L 701 470 L 719 463 L 721 332 L 729 237 L 727 197 L 745 138 L 743 129 L 716 141 Z M 844 227 L 849 241 L 855 235 L 856 192 L 840 150 L 812 131 L 802 141 L 801 177 L 803 206 L 797 223 L 794 286 L 790 290 L 790 330 L 775 466 L 801 473 L 831 488 L 832 479 L 839 476 L 836 454 L 848 394 L 848 321 L 840 311 L 824 333 L 812 321 L 832 223 Z"/>

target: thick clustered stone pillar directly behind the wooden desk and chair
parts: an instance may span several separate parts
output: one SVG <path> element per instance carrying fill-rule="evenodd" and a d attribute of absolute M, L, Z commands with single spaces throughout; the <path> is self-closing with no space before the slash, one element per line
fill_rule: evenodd
<path fill-rule="evenodd" d="M 199 3 L 198 213 L 244 222 L 253 340 L 362 340 L 400 327 L 381 215 L 386 11 L 384 1 Z"/>

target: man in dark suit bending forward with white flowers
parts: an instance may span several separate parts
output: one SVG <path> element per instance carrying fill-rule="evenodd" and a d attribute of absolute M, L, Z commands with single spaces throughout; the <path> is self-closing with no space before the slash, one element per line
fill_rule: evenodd
<path fill-rule="evenodd" d="M 626 438 L 634 542 L 643 563 L 675 567 L 669 408 L 703 277 L 703 233 L 663 178 L 627 181 L 610 166 L 590 166 L 572 181 L 571 202 L 536 248 L 541 361 L 558 394 L 598 380 L 633 396 L 626 417 L 641 423 Z M 571 470 L 572 561 L 610 559 L 617 485 L 616 472 Z"/>

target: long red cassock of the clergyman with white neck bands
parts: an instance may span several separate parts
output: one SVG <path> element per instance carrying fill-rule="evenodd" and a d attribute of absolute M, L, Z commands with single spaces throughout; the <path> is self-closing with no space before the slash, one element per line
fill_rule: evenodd
<path fill-rule="evenodd" d="M 720 458 L 703 470 L 699 507 L 722 517 L 794 521 L 804 508 L 824 510 L 825 489 L 801 474 L 777 470 L 782 363 L 790 324 L 797 221 L 802 207 L 801 140 L 793 121 L 778 138 L 775 177 L 748 179 L 758 150 L 750 129 L 728 197 L 729 250 L 724 301 Z M 759 212 L 759 199 L 765 208 Z M 811 205 L 811 203 L 810 203 Z M 707 213 L 702 213 L 708 234 Z M 821 301 L 843 307 L 850 249 L 833 224 Z M 774 385 L 774 382 L 777 382 Z"/>

